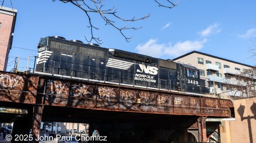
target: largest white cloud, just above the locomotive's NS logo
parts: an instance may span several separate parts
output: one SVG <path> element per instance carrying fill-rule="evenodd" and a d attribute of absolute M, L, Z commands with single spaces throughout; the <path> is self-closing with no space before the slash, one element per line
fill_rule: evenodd
<path fill-rule="evenodd" d="M 187 52 L 193 50 L 200 50 L 206 42 L 206 39 L 203 41 L 184 41 L 184 42 L 177 42 L 176 44 L 172 45 L 171 43 L 166 44 L 158 44 L 157 39 L 150 39 L 145 44 L 139 44 L 136 47 L 138 53 L 150 55 L 155 58 L 160 58 L 161 56 L 180 56 Z"/>

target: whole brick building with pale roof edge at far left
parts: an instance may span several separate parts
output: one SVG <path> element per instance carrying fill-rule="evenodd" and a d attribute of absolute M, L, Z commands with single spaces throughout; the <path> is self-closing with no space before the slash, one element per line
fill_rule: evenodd
<path fill-rule="evenodd" d="M 12 39 L 17 10 L 0 7 L 0 70 L 6 71 L 8 55 L 12 47 Z"/>

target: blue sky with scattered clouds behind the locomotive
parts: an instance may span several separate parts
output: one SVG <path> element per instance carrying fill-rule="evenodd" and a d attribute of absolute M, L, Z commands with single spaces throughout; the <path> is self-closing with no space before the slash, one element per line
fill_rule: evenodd
<path fill-rule="evenodd" d="M 179 1 L 174 0 L 178 3 Z M 256 1 L 198 1 L 183 0 L 180 5 L 167 9 L 158 7 L 155 1 L 108 1 L 105 8 L 115 6 L 117 15 L 126 19 L 146 16 L 145 20 L 121 22 L 119 26 L 140 27 L 125 31 L 126 42 L 119 31 L 97 15 L 91 14 L 92 22 L 99 30 L 102 47 L 122 49 L 151 55 L 161 59 L 174 59 L 187 52 L 198 50 L 236 62 L 256 65 L 250 49 L 256 45 Z M 12 0 L 18 10 L 13 46 L 10 51 L 8 70 L 13 68 L 12 57 L 19 56 L 19 67 L 26 67 L 29 55 L 37 55 L 36 46 L 41 37 L 62 36 L 67 40 L 77 39 L 88 43 L 88 18 L 80 9 L 56 0 Z M 11 7 L 5 0 L 5 7 Z M 96 43 L 92 41 L 92 43 Z M 25 49 L 21 49 L 25 48 Z M 31 50 L 26 50 L 31 49 Z M 30 62 L 30 67 L 33 62 Z M 19 68 L 23 70 L 23 68 Z"/>

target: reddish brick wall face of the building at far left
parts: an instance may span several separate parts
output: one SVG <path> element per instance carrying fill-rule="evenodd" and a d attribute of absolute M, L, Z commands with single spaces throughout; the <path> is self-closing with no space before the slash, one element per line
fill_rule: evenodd
<path fill-rule="evenodd" d="M 0 22 L 2 23 L 0 27 L 0 70 L 3 71 L 6 70 L 4 69 L 4 65 L 7 65 L 8 62 L 8 45 L 11 36 L 13 16 L 0 13 Z"/>

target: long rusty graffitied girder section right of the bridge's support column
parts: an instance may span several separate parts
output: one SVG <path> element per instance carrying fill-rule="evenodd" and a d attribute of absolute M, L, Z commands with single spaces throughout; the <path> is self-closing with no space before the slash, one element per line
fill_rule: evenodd
<path fill-rule="evenodd" d="M 104 83 L 45 79 L 45 105 L 75 108 L 230 117 L 230 100 L 122 87 Z"/>

